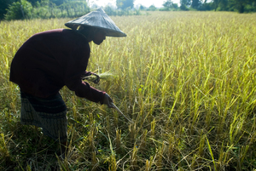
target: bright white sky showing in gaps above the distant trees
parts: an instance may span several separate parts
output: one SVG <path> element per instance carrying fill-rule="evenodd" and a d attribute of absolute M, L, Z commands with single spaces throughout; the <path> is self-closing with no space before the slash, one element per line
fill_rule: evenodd
<path fill-rule="evenodd" d="M 108 3 L 111 3 L 115 6 L 116 0 L 89 0 L 90 5 L 96 3 L 98 6 L 106 6 Z M 145 7 L 149 7 L 150 5 L 154 5 L 155 7 L 162 7 L 163 3 L 166 0 L 135 0 L 134 6 L 136 7 L 138 4 L 142 4 Z M 172 0 L 173 3 L 179 3 L 180 0 Z"/>

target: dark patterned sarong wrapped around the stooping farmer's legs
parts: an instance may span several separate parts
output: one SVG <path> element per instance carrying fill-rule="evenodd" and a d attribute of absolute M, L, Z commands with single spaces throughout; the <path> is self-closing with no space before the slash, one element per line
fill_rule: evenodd
<path fill-rule="evenodd" d="M 67 140 L 67 107 L 61 94 L 38 98 L 20 91 L 20 123 L 43 128 L 53 140 Z"/>

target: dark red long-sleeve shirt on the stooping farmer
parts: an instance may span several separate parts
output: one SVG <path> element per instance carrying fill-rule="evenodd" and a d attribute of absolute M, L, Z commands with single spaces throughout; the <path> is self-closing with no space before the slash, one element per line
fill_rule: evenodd
<path fill-rule="evenodd" d="M 15 54 L 9 80 L 21 91 L 46 98 L 67 86 L 79 97 L 99 102 L 100 90 L 81 80 L 86 74 L 90 46 L 77 31 L 56 29 L 30 37 Z"/>

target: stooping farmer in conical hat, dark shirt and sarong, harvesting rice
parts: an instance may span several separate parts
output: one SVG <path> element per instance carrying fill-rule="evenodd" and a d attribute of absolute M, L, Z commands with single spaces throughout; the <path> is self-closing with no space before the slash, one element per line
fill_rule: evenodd
<path fill-rule="evenodd" d="M 65 25 L 72 30 L 39 32 L 26 40 L 15 54 L 9 77 L 20 87 L 20 123 L 43 128 L 45 135 L 62 145 L 67 145 L 67 107 L 59 90 L 67 86 L 81 98 L 113 107 L 107 93 L 82 78 L 96 75 L 85 71 L 91 41 L 100 45 L 106 36 L 126 36 L 102 9 Z"/>

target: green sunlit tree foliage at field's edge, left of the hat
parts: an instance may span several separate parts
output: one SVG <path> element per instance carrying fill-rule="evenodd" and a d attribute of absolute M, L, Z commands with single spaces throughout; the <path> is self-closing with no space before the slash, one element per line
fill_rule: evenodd
<path fill-rule="evenodd" d="M 59 4 L 59 5 L 57 5 Z M 5 20 L 20 20 L 31 18 L 78 17 L 90 12 L 84 0 L 16 0 L 9 4 Z"/>

